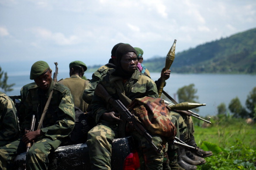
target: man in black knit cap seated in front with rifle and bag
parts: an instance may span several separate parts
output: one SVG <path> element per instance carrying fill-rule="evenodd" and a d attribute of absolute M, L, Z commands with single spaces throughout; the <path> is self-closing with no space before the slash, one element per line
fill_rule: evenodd
<path fill-rule="evenodd" d="M 99 81 L 113 98 L 120 99 L 125 106 L 135 98 L 144 96 L 158 98 L 153 80 L 137 71 L 137 55 L 132 46 L 128 44 L 119 46 L 116 57 L 116 69 L 109 69 L 108 74 Z M 88 133 L 87 145 L 91 168 L 92 170 L 110 170 L 111 142 L 118 138 L 118 123 L 121 120 L 119 115 L 112 111 L 112 106 L 95 94 L 91 105 L 98 124 Z M 148 170 L 161 170 L 163 152 L 157 154 L 150 143 L 136 132 L 132 136 L 143 151 L 144 166 Z M 153 143 L 160 148 L 163 144 L 162 139 L 158 135 L 152 135 L 152 137 Z"/>

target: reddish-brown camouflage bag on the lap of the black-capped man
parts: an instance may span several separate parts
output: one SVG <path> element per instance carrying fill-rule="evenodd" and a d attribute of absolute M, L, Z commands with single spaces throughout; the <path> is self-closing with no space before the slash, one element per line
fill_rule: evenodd
<path fill-rule="evenodd" d="M 128 106 L 152 134 L 165 136 L 168 141 L 173 141 L 177 129 L 171 122 L 165 103 L 160 98 L 145 96 L 136 98 Z"/>

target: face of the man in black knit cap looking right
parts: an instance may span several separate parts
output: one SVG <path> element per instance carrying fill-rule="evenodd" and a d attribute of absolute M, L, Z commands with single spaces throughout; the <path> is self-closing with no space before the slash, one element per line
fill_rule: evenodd
<path fill-rule="evenodd" d="M 122 55 L 121 66 L 125 71 L 134 72 L 137 69 L 137 55 L 134 52 L 129 52 Z"/>

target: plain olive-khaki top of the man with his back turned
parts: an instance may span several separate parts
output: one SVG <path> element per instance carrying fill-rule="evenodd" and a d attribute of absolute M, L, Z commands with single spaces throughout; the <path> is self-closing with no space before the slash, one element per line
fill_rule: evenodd
<path fill-rule="evenodd" d="M 75 106 L 80 108 L 81 111 L 86 112 L 88 104 L 84 102 L 82 95 L 85 87 L 89 83 L 89 80 L 84 80 L 78 75 L 73 74 L 70 76 L 70 78 L 60 80 L 58 83 L 61 83 L 69 88 L 71 94 L 73 95 Z"/>

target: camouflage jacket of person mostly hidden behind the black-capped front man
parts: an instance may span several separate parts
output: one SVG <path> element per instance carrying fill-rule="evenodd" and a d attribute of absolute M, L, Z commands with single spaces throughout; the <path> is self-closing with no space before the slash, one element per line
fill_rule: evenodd
<path fill-rule="evenodd" d="M 92 79 L 88 83 L 87 87 L 84 90 L 83 99 L 88 104 L 91 103 L 91 100 L 94 96 L 94 90 L 100 80 L 100 78 L 107 73 L 109 68 L 116 68 L 116 66 L 112 63 L 108 63 L 106 65 L 101 66 L 97 71 L 92 75 Z"/>

